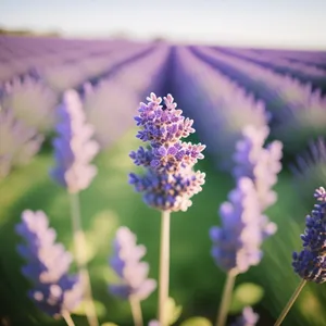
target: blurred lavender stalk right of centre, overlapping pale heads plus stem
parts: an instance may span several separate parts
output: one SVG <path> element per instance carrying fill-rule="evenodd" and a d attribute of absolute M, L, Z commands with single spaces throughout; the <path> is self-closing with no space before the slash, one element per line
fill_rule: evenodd
<path fill-rule="evenodd" d="M 236 276 L 244 273 L 262 259 L 261 244 L 277 227 L 263 214 L 275 203 L 272 190 L 281 170 L 281 142 L 274 141 L 264 148 L 268 127 L 246 126 L 243 138 L 236 145 L 234 176 L 237 188 L 229 201 L 220 208 L 222 227 L 212 227 L 212 255 L 227 273 L 216 325 L 224 326 L 230 304 Z"/>

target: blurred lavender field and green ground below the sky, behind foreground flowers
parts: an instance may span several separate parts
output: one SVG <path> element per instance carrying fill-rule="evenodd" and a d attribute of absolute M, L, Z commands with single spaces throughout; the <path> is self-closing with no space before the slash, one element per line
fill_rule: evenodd
<path fill-rule="evenodd" d="M 108 259 L 120 226 L 147 247 L 149 275 L 158 279 L 160 214 L 128 184 L 135 172 L 129 152 L 140 143 L 134 116 L 139 102 L 154 92 L 174 97 L 195 122 L 189 139 L 206 146 L 198 163 L 206 174 L 203 190 L 171 221 L 170 294 L 183 305 L 175 325 L 191 316 L 215 318 L 225 273 L 211 256 L 209 231 L 220 224 L 218 208 L 235 188 L 234 153 L 243 130 L 264 130 L 256 141 L 266 148 L 272 141 L 281 146 L 281 171 L 271 181 L 277 198 L 265 212 L 277 231 L 264 241 L 260 264 L 238 276 L 228 319 L 230 325 L 244 305 L 252 305 L 260 314 L 256 325 L 273 325 L 300 281 L 292 252 L 301 248 L 314 189 L 326 187 L 326 51 L 0 36 L 3 326 L 65 325 L 28 299 L 30 283 L 21 273 L 15 225 L 24 210 L 42 210 L 58 239 L 73 250 L 70 202 L 49 175 L 55 165 L 58 108 L 67 90 L 79 96 L 99 145 L 98 173 L 80 192 L 80 212 L 88 243 L 83 258 L 100 323 L 134 325 L 129 303 L 108 291 L 117 279 Z M 154 291 L 141 304 L 146 323 L 155 316 L 156 300 Z M 325 306 L 325 283 L 309 283 L 283 325 L 326 326 Z M 76 325 L 88 325 L 84 315 L 82 309 L 72 314 Z"/>

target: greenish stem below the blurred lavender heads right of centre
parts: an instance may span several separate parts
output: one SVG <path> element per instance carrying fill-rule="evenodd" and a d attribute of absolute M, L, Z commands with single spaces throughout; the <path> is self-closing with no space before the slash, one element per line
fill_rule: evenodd
<path fill-rule="evenodd" d="M 236 272 L 236 269 L 231 269 L 227 273 L 226 281 L 223 289 L 222 302 L 216 318 L 216 326 L 225 325 L 237 274 L 238 273 Z"/>

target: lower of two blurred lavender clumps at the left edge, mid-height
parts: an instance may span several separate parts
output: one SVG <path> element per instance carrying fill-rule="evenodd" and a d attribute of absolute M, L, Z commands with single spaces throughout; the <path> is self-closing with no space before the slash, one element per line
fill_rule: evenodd
<path fill-rule="evenodd" d="M 39 151 L 43 136 L 0 106 L 0 179 L 12 166 L 24 165 Z"/>

